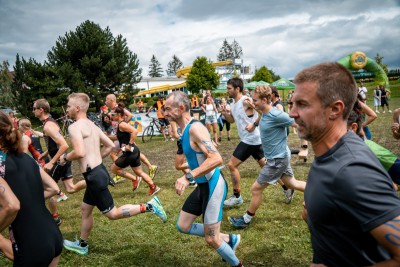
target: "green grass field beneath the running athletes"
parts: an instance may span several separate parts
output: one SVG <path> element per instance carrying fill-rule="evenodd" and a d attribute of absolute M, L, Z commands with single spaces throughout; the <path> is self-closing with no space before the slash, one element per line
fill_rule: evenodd
<path fill-rule="evenodd" d="M 369 98 L 368 104 L 372 105 L 372 97 Z M 394 110 L 400 106 L 400 98 L 393 97 L 390 104 Z M 370 125 L 373 140 L 400 155 L 398 141 L 390 134 L 391 122 L 392 114 L 379 114 L 376 121 Z M 239 142 L 236 127 L 232 126 L 232 140 L 228 142 L 223 139 L 222 145 L 218 147 L 225 164 Z M 162 223 L 150 213 L 109 221 L 95 209 L 89 255 L 79 256 L 64 250 L 59 266 L 228 266 L 214 250 L 206 246 L 202 238 L 180 234 L 175 228 L 182 204 L 193 190 L 188 188 L 181 197 L 175 194 L 174 182 L 181 176 L 181 172 L 173 167 L 176 143 L 156 138 L 146 144 L 138 140 L 138 145 L 150 161 L 159 166 L 155 183 L 162 188 L 158 196 L 167 211 L 168 221 Z M 289 145 L 297 149 L 300 146 L 298 137 L 293 133 L 289 136 Z M 312 161 L 312 149 L 306 163 L 300 161 L 297 156 L 292 157 L 291 163 L 297 179 L 306 181 Z M 105 165 L 111 165 L 109 158 L 105 160 Z M 73 166 L 75 179 L 82 179 L 77 165 Z M 223 169 L 223 172 L 230 186 L 227 168 Z M 250 159 L 242 164 L 240 172 L 245 203 L 237 208 L 225 209 L 222 221 L 223 232 L 242 235 L 237 256 L 243 259 L 245 266 L 308 266 L 312 250 L 307 225 L 300 218 L 303 201 L 301 192 L 296 192 L 293 202 L 287 205 L 284 203 L 281 187 L 271 186 L 264 192 L 263 204 L 248 229 L 236 230 L 229 225 L 227 217 L 241 215 L 249 204 L 250 187 L 258 175 L 258 164 Z M 141 184 L 135 193 L 132 193 L 128 181 L 110 190 L 117 206 L 150 200 L 145 195 L 148 190 L 145 183 Z M 228 194 L 231 194 L 231 188 Z M 68 196 L 67 201 L 59 204 L 63 218 L 60 228 L 64 238 L 71 240 L 79 237 L 83 192 Z M 0 266 L 12 264 L 0 258 Z"/>

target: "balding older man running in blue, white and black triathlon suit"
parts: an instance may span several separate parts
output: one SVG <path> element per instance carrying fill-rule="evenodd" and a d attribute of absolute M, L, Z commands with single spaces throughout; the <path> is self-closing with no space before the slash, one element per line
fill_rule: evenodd
<path fill-rule="evenodd" d="M 222 164 L 221 155 L 213 145 L 207 128 L 199 121 L 192 120 L 190 100 L 185 93 L 176 91 L 168 96 L 165 116 L 183 129 L 180 138 L 182 146 L 177 154 L 180 163 L 176 166 L 182 165 L 186 157 L 191 170 L 176 180 L 176 193 L 181 196 L 190 181 L 195 180 L 198 184 L 186 199 L 176 228 L 181 233 L 204 237 L 223 260 L 231 266 L 242 266 L 235 255 L 240 235 L 220 233 L 222 203 L 227 191 L 225 179 L 218 168 Z M 194 223 L 201 214 L 204 224 Z"/>

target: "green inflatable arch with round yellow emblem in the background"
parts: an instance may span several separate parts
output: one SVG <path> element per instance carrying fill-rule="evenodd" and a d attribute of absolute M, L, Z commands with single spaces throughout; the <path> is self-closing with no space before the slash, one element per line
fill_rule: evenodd
<path fill-rule="evenodd" d="M 375 84 L 390 88 L 389 79 L 382 67 L 368 58 L 363 52 L 356 51 L 337 61 L 351 71 L 364 69 L 375 74 Z"/>

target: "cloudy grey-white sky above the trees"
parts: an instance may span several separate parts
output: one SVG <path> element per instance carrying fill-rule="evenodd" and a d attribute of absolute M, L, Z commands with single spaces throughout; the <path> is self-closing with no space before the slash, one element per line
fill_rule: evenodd
<path fill-rule="evenodd" d="M 304 67 L 362 51 L 400 68 L 399 0 L 0 0 L 0 61 L 19 53 L 44 62 L 59 36 L 85 20 L 122 34 L 147 74 L 154 54 L 164 70 L 213 61 L 234 39 L 251 68 L 291 78 Z"/>

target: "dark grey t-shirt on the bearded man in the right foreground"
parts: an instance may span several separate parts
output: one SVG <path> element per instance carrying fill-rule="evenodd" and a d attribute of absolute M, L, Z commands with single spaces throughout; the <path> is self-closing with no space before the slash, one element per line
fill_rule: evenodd
<path fill-rule="evenodd" d="M 400 199 L 388 173 L 354 133 L 315 158 L 304 199 L 314 263 L 370 266 L 390 258 L 369 231 L 400 215 Z"/>

